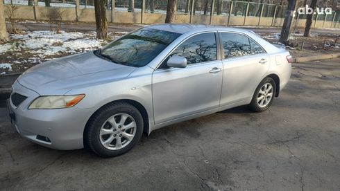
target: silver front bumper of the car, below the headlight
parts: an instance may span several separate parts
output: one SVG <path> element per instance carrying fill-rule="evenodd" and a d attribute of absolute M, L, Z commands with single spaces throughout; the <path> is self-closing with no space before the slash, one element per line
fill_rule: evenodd
<path fill-rule="evenodd" d="M 18 107 L 8 100 L 12 124 L 21 136 L 53 149 L 83 148 L 83 131 L 92 113 L 90 109 L 28 109 L 29 104 L 40 95 L 18 82 L 15 82 L 12 91 L 28 97 Z"/>

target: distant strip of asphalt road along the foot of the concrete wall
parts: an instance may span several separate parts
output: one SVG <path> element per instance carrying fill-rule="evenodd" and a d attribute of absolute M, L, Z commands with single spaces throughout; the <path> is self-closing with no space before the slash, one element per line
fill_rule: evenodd
<path fill-rule="evenodd" d="M 8 28 L 10 28 L 10 24 L 7 25 Z M 19 30 L 50 30 L 51 26 L 50 24 L 44 24 L 44 23 L 17 23 L 15 26 Z M 53 25 L 54 26 L 54 25 Z M 142 27 L 143 25 L 140 24 L 110 24 L 108 25 L 108 30 L 110 32 L 129 32 L 131 30 L 135 30 L 137 28 Z M 237 26 L 234 26 L 237 27 Z M 281 28 L 278 27 L 241 27 L 248 30 L 253 30 L 255 33 L 280 33 Z M 61 26 L 62 30 L 65 31 L 80 31 L 80 32 L 87 32 L 87 31 L 95 31 L 96 30 L 96 24 L 94 23 L 65 23 Z M 299 29 L 298 29 L 299 30 Z M 299 30 L 301 33 L 303 33 L 303 30 L 300 28 Z M 320 34 L 320 35 L 340 35 L 340 28 L 335 29 L 328 29 L 328 28 L 313 28 L 312 29 L 313 34 Z"/>

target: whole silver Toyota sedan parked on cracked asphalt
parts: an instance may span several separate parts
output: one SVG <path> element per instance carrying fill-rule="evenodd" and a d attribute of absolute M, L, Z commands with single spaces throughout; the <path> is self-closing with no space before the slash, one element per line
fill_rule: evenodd
<path fill-rule="evenodd" d="M 24 138 L 53 149 L 128 152 L 151 131 L 248 104 L 268 109 L 291 75 L 289 52 L 249 30 L 162 24 L 28 69 L 8 108 Z"/>

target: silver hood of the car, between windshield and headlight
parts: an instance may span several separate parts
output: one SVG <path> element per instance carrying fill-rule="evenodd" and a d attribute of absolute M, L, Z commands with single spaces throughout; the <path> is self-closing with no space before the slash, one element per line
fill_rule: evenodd
<path fill-rule="evenodd" d="M 93 52 L 62 57 L 33 66 L 18 82 L 40 95 L 66 93 L 76 87 L 126 78 L 134 67 L 103 60 Z"/>

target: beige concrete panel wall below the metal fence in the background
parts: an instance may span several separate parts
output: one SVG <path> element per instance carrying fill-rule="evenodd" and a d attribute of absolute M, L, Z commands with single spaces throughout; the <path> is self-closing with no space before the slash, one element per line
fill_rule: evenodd
<path fill-rule="evenodd" d="M 6 8 L 9 8 L 6 5 Z M 14 19 L 35 19 L 33 6 L 17 6 L 18 9 L 15 11 Z M 62 12 L 63 21 L 77 21 L 76 8 L 56 8 L 56 7 L 35 7 L 35 15 L 37 20 L 49 20 L 49 15 L 53 11 Z M 7 17 L 7 15 L 6 15 Z M 112 21 L 111 10 L 107 11 L 108 21 Z M 165 21 L 165 14 L 160 13 L 144 13 L 143 22 L 141 21 L 142 12 L 121 12 L 115 11 L 113 15 L 114 23 L 125 23 L 125 24 L 163 24 Z M 228 25 L 228 16 L 213 15 L 212 25 Z M 93 8 L 79 8 L 78 9 L 78 21 L 94 22 L 94 9 Z M 176 15 L 174 23 L 189 23 L 189 15 Z M 230 17 L 229 26 L 282 26 L 284 18 L 272 17 Z M 304 27 L 306 19 L 299 19 L 298 26 Z M 210 24 L 210 15 L 193 15 L 192 24 Z M 315 24 L 315 25 L 314 25 Z M 333 23 L 332 21 L 314 21 L 313 26 L 315 28 L 340 28 L 340 24 Z"/>

